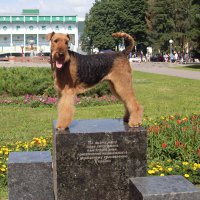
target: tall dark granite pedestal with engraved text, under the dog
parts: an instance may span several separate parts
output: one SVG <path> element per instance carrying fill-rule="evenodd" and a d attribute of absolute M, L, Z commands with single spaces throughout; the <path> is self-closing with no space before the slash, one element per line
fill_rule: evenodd
<path fill-rule="evenodd" d="M 128 200 L 129 177 L 146 175 L 146 130 L 121 119 L 75 120 L 54 130 L 57 200 Z"/>

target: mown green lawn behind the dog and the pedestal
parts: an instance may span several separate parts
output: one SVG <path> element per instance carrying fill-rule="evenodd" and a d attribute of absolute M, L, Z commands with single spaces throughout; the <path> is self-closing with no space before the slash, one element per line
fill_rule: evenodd
<path fill-rule="evenodd" d="M 165 75 L 134 73 L 136 96 L 144 106 L 144 115 L 156 118 L 179 113 L 200 111 L 200 81 Z M 123 105 L 79 107 L 75 119 L 119 118 Z M 55 107 L 23 107 L 0 105 L 0 146 L 15 141 L 30 141 L 33 137 L 50 135 L 52 120 L 57 118 Z M 0 199 L 6 199 L 5 188 L 0 188 Z"/>

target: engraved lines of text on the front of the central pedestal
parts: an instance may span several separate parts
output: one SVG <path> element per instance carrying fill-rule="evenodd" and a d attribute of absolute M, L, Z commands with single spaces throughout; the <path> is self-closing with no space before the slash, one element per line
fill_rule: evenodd
<path fill-rule="evenodd" d="M 109 163 L 111 159 L 127 158 L 127 151 L 119 151 L 116 140 L 92 142 L 88 141 L 85 153 L 78 153 L 78 159 L 93 160 L 95 163 Z"/>

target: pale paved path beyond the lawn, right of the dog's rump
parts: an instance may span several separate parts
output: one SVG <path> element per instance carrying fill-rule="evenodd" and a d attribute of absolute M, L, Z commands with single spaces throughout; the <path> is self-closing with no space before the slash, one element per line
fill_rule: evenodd
<path fill-rule="evenodd" d="M 199 71 L 191 71 L 191 70 L 182 70 L 176 69 L 178 64 L 170 64 L 170 63 L 131 63 L 133 69 L 136 71 L 155 73 L 155 74 L 164 74 L 169 76 L 177 76 L 182 78 L 196 79 L 200 80 L 200 72 Z M 186 65 L 182 65 L 186 66 Z"/>

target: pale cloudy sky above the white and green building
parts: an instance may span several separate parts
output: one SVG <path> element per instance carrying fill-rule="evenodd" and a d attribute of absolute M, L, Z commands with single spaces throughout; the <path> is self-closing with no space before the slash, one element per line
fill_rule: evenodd
<path fill-rule="evenodd" d="M 39 9 L 40 15 L 77 15 L 84 18 L 95 0 L 0 0 L 0 15 L 20 15 L 22 9 Z"/>

